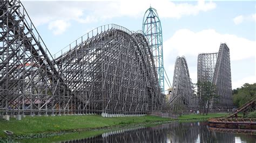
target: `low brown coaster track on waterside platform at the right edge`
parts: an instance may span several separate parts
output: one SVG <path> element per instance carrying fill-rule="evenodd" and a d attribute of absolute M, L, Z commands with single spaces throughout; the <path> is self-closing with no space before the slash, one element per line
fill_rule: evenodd
<path fill-rule="evenodd" d="M 256 134 L 256 118 L 245 118 L 246 113 L 255 111 L 255 103 L 256 97 L 228 115 L 208 119 L 210 128 L 215 131 Z M 243 116 L 238 116 L 239 113 Z"/>

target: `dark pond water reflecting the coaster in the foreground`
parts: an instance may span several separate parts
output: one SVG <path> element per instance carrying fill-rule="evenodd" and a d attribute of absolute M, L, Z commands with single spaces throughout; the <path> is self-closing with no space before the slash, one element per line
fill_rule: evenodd
<path fill-rule="evenodd" d="M 80 133 L 79 133 L 80 134 Z M 82 135 L 82 137 L 81 137 Z M 45 138 L 46 139 L 46 138 Z M 23 140 L 25 141 L 25 140 Z M 22 141 L 22 142 L 23 142 Z M 256 142 L 256 135 L 223 133 L 211 130 L 203 122 L 168 123 L 152 126 L 140 126 L 107 131 L 90 138 L 66 135 L 51 137 L 48 140 L 32 139 L 25 142 Z"/>

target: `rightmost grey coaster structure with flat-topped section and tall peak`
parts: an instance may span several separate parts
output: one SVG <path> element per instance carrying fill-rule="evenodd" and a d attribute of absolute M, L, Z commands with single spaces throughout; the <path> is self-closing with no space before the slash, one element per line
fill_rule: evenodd
<path fill-rule="evenodd" d="M 212 99 L 210 108 L 232 108 L 232 85 L 230 68 L 230 49 L 220 44 L 218 53 L 198 55 L 198 82 L 210 81 L 216 85 L 218 99 Z M 200 95 L 200 87 L 198 87 Z"/>

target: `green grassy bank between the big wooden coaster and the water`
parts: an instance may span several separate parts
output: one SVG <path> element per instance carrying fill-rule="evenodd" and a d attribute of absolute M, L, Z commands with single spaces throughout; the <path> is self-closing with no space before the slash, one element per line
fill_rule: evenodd
<path fill-rule="evenodd" d="M 184 115 L 178 120 L 204 120 L 210 117 L 223 116 L 225 113 L 203 115 Z M 89 131 L 92 129 L 126 126 L 131 124 L 151 124 L 173 121 L 170 118 L 156 116 L 103 118 L 99 115 L 87 116 L 56 116 L 56 117 L 25 117 L 22 120 L 0 120 L 0 138 L 6 137 L 4 130 L 14 132 L 14 135 L 37 133 L 53 133 L 62 131 Z"/>

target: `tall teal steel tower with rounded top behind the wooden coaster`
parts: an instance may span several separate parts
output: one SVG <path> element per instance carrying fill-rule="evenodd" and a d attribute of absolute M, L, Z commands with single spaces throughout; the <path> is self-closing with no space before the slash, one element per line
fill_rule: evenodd
<path fill-rule="evenodd" d="M 156 65 L 158 81 L 161 92 L 164 94 L 164 60 L 163 60 L 163 37 L 161 22 L 157 10 L 150 8 L 144 14 L 142 31 L 149 40 L 152 49 L 154 65 Z"/>

